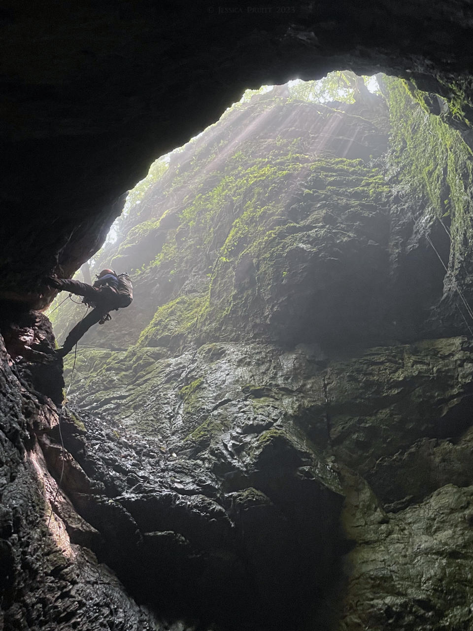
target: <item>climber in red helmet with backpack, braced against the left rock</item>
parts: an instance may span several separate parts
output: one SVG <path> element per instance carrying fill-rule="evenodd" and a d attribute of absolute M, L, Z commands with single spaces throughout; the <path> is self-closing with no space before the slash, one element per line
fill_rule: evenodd
<path fill-rule="evenodd" d="M 102 269 L 93 285 L 70 278 L 53 277 L 45 278 L 45 283 L 61 292 L 83 296 L 82 302 L 93 307 L 91 312 L 69 331 L 64 346 L 55 351 L 56 357 L 67 355 L 91 326 L 97 322 L 103 324 L 111 320 L 110 311 L 128 307 L 133 300 L 133 287 L 129 275 L 117 274 L 113 269 Z"/>

